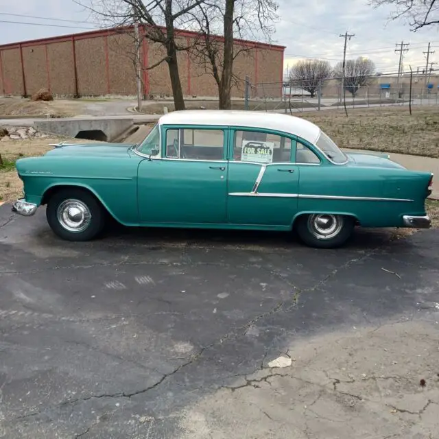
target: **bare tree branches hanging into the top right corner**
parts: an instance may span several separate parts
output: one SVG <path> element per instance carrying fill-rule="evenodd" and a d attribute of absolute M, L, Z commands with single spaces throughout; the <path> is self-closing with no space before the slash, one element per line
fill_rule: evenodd
<path fill-rule="evenodd" d="M 439 2 L 436 0 L 370 0 L 373 8 L 383 5 L 394 6 L 390 19 L 407 18 L 411 30 L 439 24 Z"/>

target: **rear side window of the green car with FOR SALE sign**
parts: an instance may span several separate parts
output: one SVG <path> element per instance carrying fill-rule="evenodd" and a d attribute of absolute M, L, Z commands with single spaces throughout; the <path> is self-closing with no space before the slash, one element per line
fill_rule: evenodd
<path fill-rule="evenodd" d="M 233 161 L 284 163 L 291 157 L 291 139 L 259 131 L 235 131 Z"/>

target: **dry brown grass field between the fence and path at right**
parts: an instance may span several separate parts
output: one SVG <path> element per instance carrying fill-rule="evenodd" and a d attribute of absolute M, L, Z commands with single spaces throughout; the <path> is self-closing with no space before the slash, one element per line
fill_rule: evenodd
<path fill-rule="evenodd" d="M 295 114 L 327 132 L 342 148 L 439 157 L 439 110 L 407 106 Z"/>

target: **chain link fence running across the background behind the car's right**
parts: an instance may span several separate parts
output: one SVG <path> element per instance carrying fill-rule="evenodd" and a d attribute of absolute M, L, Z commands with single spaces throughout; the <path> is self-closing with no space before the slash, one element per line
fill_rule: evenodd
<path fill-rule="evenodd" d="M 248 110 L 303 112 L 325 108 L 372 106 L 438 106 L 439 80 L 425 86 L 418 78 L 404 76 L 400 82 L 383 75 L 369 78 L 367 86 L 341 85 L 340 78 L 314 82 L 251 83 L 246 78 L 245 105 Z"/>

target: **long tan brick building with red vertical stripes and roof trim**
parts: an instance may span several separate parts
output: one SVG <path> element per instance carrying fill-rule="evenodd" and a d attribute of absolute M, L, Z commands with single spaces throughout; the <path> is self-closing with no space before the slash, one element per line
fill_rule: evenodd
<path fill-rule="evenodd" d="M 32 95 L 49 88 L 58 96 L 135 95 L 136 73 L 133 29 L 99 30 L 0 45 L 0 95 Z M 194 32 L 177 32 L 178 40 L 190 44 Z M 221 40 L 220 37 L 218 37 Z M 234 73 L 244 81 L 278 82 L 283 76 L 285 47 L 246 40 L 235 60 Z M 163 47 L 144 39 L 141 62 L 149 67 L 164 56 Z M 178 53 L 180 80 L 185 95 L 216 96 L 217 85 L 209 71 L 188 51 Z M 143 70 L 144 95 L 171 95 L 167 64 Z M 244 84 L 233 87 L 233 97 L 244 96 Z M 279 85 L 279 97 L 282 89 Z"/>

